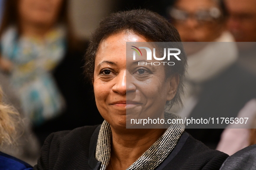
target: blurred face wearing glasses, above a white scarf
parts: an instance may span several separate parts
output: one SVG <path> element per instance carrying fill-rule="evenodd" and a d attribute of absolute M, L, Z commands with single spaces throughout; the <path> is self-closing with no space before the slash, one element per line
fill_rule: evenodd
<path fill-rule="evenodd" d="M 183 42 L 212 42 L 225 28 L 216 0 L 177 0 L 169 15 Z"/>

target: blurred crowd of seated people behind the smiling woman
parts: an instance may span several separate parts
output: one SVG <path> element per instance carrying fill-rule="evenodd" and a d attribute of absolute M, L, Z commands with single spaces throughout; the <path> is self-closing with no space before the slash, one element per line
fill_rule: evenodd
<path fill-rule="evenodd" d="M 95 4 L 101 3 L 108 5 L 97 9 Z M 255 0 L 88 4 L 93 8 L 83 0 L 0 0 L 0 87 L 3 102 L 14 106 L 23 119 L 16 144 L 2 144 L 0 151 L 34 165 L 50 133 L 103 122 L 91 82 L 83 76 L 87 35 L 105 15 L 137 8 L 165 16 L 184 42 L 188 55 L 184 106 L 174 106 L 172 112 L 182 117 L 250 118 L 243 128 L 186 131 L 230 155 L 256 144 Z"/>

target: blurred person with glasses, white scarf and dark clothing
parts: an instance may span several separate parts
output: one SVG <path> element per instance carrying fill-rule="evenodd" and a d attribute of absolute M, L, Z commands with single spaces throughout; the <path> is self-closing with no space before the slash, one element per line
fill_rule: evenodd
<path fill-rule="evenodd" d="M 182 117 L 236 117 L 256 96 L 256 77 L 236 63 L 237 47 L 226 29 L 228 15 L 223 0 L 176 0 L 168 13 L 183 42 L 204 42 L 184 44 L 188 50 L 188 85 L 184 108 L 176 111 Z M 223 129 L 187 131 L 216 148 Z"/>

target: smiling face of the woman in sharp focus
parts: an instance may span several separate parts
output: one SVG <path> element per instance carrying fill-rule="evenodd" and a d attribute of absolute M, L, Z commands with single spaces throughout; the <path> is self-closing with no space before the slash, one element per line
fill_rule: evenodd
<path fill-rule="evenodd" d="M 100 43 L 95 58 L 94 94 L 100 114 L 114 128 L 126 128 L 126 112 L 163 113 L 176 93 L 178 76 L 165 77 L 164 66 L 140 65 L 126 60 L 126 42 L 146 42 L 121 32 Z"/>

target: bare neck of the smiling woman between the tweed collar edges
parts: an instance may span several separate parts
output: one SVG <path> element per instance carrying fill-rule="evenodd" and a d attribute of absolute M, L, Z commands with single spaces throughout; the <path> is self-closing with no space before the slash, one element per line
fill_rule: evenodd
<path fill-rule="evenodd" d="M 112 131 L 111 162 L 114 169 L 127 169 L 149 147 L 154 144 L 166 129 L 126 129 L 127 133 Z"/>

